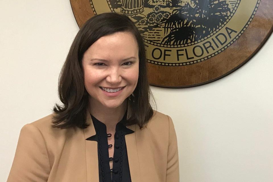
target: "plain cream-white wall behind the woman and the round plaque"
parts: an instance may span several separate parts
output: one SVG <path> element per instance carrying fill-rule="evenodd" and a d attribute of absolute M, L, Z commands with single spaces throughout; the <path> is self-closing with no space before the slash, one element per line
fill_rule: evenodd
<path fill-rule="evenodd" d="M 0 1 L 0 181 L 20 129 L 51 113 L 57 79 L 78 26 L 69 0 Z M 273 179 L 273 37 L 245 66 L 187 89 L 152 87 L 172 117 L 182 182 Z"/>

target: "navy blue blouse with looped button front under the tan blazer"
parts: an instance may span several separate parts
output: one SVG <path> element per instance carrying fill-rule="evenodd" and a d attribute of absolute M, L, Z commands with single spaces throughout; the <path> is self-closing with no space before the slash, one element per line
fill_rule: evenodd
<path fill-rule="evenodd" d="M 108 145 L 107 137 L 112 137 L 111 133 L 107 134 L 106 125 L 92 116 L 92 121 L 96 135 L 87 138 L 98 142 L 98 162 L 99 162 L 99 181 L 100 182 L 131 182 L 131 175 L 128 163 L 125 135 L 134 133 L 134 131 L 125 127 L 127 112 L 123 119 L 116 125 L 115 144 Z M 109 158 L 108 148 L 114 148 L 113 158 Z M 109 161 L 113 160 L 113 169 L 110 169 Z M 111 177 L 112 173 L 112 177 Z"/>

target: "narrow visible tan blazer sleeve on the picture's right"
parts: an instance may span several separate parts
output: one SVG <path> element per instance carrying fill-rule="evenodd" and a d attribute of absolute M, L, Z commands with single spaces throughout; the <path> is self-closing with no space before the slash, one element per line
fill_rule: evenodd
<path fill-rule="evenodd" d="M 179 182 L 177 138 L 172 119 L 169 118 L 169 147 L 167 156 L 166 182 Z"/>

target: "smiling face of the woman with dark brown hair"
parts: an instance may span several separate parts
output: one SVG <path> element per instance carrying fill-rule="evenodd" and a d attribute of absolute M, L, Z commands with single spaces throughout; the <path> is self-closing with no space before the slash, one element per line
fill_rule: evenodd
<path fill-rule="evenodd" d="M 83 55 L 84 85 L 95 106 L 117 108 L 137 86 L 138 45 L 130 32 L 98 39 Z"/>

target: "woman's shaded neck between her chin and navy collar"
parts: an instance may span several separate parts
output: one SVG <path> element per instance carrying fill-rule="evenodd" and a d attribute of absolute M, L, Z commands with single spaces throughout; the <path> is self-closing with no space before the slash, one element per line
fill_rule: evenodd
<path fill-rule="evenodd" d="M 115 127 L 119 121 L 123 118 L 127 110 L 127 100 L 125 100 L 119 107 L 108 108 L 101 103 L 92 102 L 90 100 L 90 113 L 96 119 L 104 123 L 107 130 L 115 131 Z"/>

